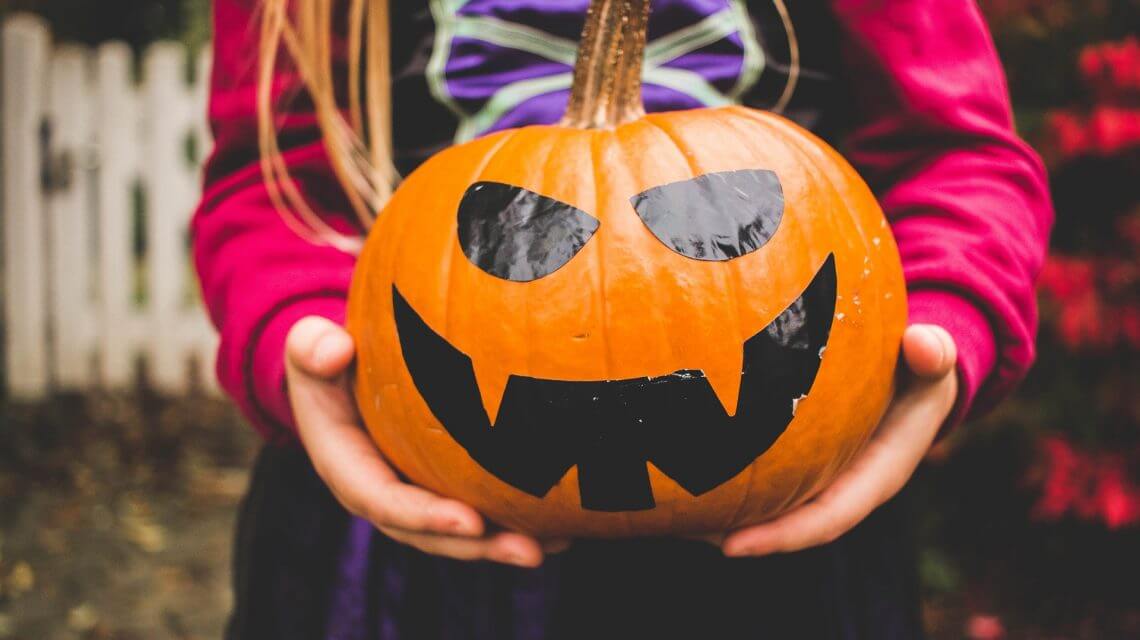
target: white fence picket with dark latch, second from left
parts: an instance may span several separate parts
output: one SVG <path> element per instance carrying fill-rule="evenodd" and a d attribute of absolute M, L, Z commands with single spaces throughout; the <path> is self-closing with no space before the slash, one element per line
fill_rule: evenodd
<path fill-rule="evenodd" d="M 93 381 L 91 227 L 95 211 L 88 179 L 93 96 L 88 78 L 87 49 L 56 49 L 50 73 L 48 209 L 51 213 L 52 360 L 55 382 L 60 389 L 83 389 Z"/>

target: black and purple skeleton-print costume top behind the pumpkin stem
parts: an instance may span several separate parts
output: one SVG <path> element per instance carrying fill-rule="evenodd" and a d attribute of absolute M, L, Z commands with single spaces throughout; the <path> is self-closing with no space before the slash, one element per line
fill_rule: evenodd
<path fill-rule="evenodd" d="M 588 0 L 392 3 L 396 149 L 408 171 L 439 148 L 556 121 Z M 826 0 L 789 7 L 801 54 L 787 114 L 825 137 L 841 127 L 838 34 Z M 774 105 L 789 38 L 772 0 L 657 0 L 644 71 L 649 111 Z"/>

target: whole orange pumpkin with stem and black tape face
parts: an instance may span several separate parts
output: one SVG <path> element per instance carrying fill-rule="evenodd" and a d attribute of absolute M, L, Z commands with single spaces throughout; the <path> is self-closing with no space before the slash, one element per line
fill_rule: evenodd
<path fill-rule="evenodd" d="M 893 392 L 905 292 L 871 191 L 779 115 L 646 115 L 646 19 L 648 0 L 594 0 L 563 121 L 426 161 L 350 292 L 383 455 L 538 536 L 772 518 Z"/>

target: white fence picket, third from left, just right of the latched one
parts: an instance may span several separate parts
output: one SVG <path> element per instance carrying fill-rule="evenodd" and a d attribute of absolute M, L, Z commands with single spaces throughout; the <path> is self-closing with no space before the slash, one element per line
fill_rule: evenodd
<path fill-rule="evenodd" d="M 99 364 L 103 384 L 133 382 L 135 185 L 138 170 L 138 98 L 131 50 L 121 42 L 99 47 L 96 73 L 96 139 L 99 149 Z"/>

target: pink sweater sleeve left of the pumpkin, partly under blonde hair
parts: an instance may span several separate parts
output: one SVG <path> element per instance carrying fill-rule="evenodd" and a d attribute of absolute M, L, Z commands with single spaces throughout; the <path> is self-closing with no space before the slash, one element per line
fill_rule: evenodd
<path fill-rule="evenodd" d="M 282 220 L 259 168 L 255 0 L 215 0 L 210 122 L 214 149 L 193 221 L 195 266 L 211 318 L 221 334 L 218 379 L 269 440 L 293 435 L 285 395 L 285 335 L 299 318 L 344 319 L 355 258 L 309 243 Z M 276 96 L 299 94 L 280 72 Z M 350 213 L 328 165 L 303 95 L 282 100 L 282 148 L 302 193 L 335 227 Z"/>

